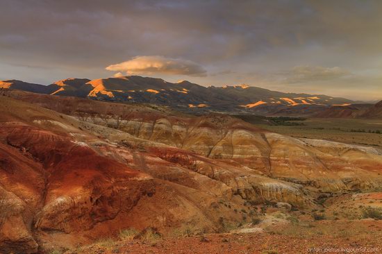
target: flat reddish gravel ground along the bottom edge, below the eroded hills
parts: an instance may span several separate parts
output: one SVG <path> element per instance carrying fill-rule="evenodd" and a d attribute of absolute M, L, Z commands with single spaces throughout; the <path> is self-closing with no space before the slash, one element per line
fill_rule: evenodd
<path fill-rule="evenodd" d="M 65 253 L 381 253 L 381 237 L 382 221 L 319 221 L 292 225 L 276 222 L 265 230 L 259 226 L 248 228 L 247 232 L 238 230 L 166 239 L 104 239 Z"/>

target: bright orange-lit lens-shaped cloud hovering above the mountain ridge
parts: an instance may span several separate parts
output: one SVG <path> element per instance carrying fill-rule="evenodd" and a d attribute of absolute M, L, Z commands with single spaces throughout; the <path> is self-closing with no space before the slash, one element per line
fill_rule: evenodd
<path fill-rule="evenodd" d="M 135 56 L 126 62 L 109 65 L 106 69 L 108 71 L 123 71 L 129 75 L 169 74 L 206 76 L 206 70 L 195 62 L 183 59 L 165 58 L 163 56 Z"/>

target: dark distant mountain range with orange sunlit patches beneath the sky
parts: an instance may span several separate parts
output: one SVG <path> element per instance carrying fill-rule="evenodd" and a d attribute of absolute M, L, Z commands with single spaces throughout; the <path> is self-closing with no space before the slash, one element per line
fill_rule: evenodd
<path fill-rule="evenodd" d="M 297 94 L 248 85 L 204 87 L 189 81 L 169 83 L 160 78 L 124 76 L 67 78 L 51 85 L 0 81 L 0 87 L 41 94 L 90 97 L 105 101 L 128 101 L 168 105 L 192 112 L 251 112 L 257 114 L 311 114 L 330 105 L 348 105 L 349 99 L 317 94 Z"/>

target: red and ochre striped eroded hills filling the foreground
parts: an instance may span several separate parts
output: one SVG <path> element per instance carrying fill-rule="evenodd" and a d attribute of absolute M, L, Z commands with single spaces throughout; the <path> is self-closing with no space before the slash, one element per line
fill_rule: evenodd
<path fill-rule="evenodd" d="M 210 234 L 224 232 L 232 248 L 246 251 L 233 232 L 282 245 L 328 221 L 335 227 L 322 234 L 330 242 L 340 225 L 379 225 L 382 217 L 382 151 L 373 147 L 150 105 L 28 93 L 0 102 L 0 253 L 113 251 L 97 242 L 113 246 L 128 230 L 138 232 L 131 252 L 198 245 L 203 235 L 199 245 L 216 252 L 221 235 Z M 362 244 L 379 236 L 370 229 Z M 346 232 L 338 244 L 351 244 Z M 131 241 L 121 241 L 119 251 L 129 251 Z"/>

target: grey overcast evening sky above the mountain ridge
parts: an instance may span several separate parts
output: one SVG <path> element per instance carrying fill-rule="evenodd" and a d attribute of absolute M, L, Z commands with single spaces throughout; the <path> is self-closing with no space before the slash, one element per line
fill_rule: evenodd
<path fill-rule="evenodd" d="M 140 75 L 382 99 L 382 1 L 0 0 L 0 80 Z"/>

